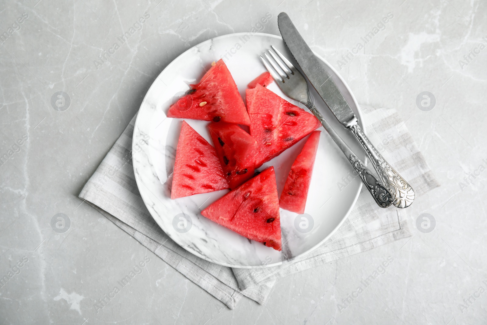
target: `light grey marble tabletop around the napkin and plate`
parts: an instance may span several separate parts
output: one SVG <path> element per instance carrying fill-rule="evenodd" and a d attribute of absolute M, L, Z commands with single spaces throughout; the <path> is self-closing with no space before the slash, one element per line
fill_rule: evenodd
<path fill-rule="evenodd" d="M 485 324 L 486 7 L 480 0 L 3 1 L 0 276 L 11 277 L 0 285 L 0 323 Z M 77 195 L 171 60 L 256 26 L 278 35 L 281 11 L 359 103 L 398 110 L 441 187 L 408 209 L 411 238 L 283 278 L 265 305 L 244 298 L 229 310 Z M 272 19 L 259 27 L 266 13 Z M 61 222 L 57 213 L 69 218 L 66 232 L 52 226 Z M 422 213 L 436 221 L 431 232 L 416 226 Z M 386 273 L 354 294 L 389 256 Z M 95 310 L 113 279 L 145 257 L 131 285 Z M 342 299 L 346 308 L 338 308 Z"/>

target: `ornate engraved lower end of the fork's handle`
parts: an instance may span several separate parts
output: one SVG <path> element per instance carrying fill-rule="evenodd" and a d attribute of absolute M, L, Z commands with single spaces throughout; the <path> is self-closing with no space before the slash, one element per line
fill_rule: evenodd
<path fill-rule="evenodd" d="M 367 190 L 372 194 L 375 202 L 382 208 L 387 208 L 393 204 L 393 195 L 388 191 L 382 183 L 375 178 L 375 176 L 365 167 L 360 159 L 354 154 L 350 154 L 350 163 L 354 167 L 362 183 L 367 187 Z"/>

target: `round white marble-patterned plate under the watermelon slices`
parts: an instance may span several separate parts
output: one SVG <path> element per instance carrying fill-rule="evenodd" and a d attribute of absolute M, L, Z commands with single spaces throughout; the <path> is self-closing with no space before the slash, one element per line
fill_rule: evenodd
<path fill-rule="evenodd" d="M 135 122 L 133 168 L 140 194 L 150 214 L 181 247 L 207 261 L 229 267 L 269 267 L 297 258 L 330 237 L 354 206 L 362 184 L 358 177 L 350 176 L 352 167 L 326 131 L 320 128 L 322 133 L 305 215 L 298 216 L 281 209 L 282 243 L 285 243 L 282 252 L 250 241 L 201 215 L 201 210 L 228 190 L 171 200 L 175 148 L 182 119 L 167 118 L 169 106 L 178 96 L 189 90 L 190 83 L 199 81 L 212 61 L 221 57 L 224 57 L 243 98 L 247 83 L 265 71 L 259 60 L 259 55 L 265 49 L 274 45 L 284 55 L 291 57 L 278 36 L 257 33 L 250 38 L 248 35 L 247 38 L 244 37 L 245 33 L 239 33 L 209 39 L 181 54 L 161 72 L 147 92 Z M 323 64 L 328 70 L 334 71 L 325 60 Z M 350 106 L 362 120 L 356 99 L 345 81 L 339 76 L 335 79 Z M 299 105 L 284 96 L 275 83 L 268 88 Z M 319 98 L 316 93 L 312 95 Z M 358 153 L 359 158 L 365 160 L 365 155 L 356 142 L 324 104 L 320 100 L 316 100 L 316 104 L 337 132 Z M 208 122 L 190 119 L 186 121 L 212 143 L 206 130 Z M 306 139 L 307 137 L 260 169 L 274 166 L 279 195 L 291 165 Z M 339 187 L 337 182 L 346 186 Z"/>

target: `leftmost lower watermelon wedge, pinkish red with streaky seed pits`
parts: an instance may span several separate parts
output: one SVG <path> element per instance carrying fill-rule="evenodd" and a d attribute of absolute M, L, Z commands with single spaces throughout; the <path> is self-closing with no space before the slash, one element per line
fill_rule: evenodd
<path fill-rule="evenodd" d="M 228 189 L 228 181 L 215 148 L 183 121 L 176 149 L 171 199 L 223 189 Z"/>

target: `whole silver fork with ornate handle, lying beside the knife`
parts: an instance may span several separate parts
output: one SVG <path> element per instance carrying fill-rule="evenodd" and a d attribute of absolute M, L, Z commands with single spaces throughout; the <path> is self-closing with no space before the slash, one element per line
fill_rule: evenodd
<path fill-rule="evenodd" d="M 270 54 L 264 53 L 264 57 L 260 57 L 262 63 L 271 76 L 274 78 L 282 92 L 292 98 L 303 103 L 321 122 L 326 132 L 330 134 L 335 141 L 338 148 L 347 157 L 348 161 L 354 168 L 356 176 L 360 176 L 362 183 L 367 190 L 372 194 L 375 202 L 382 208 L 387 208 L 393 203 L 393 196 L 388 191 L 381 181 L 379 181 L 370 170 L 358 159 L 350 147 L 342 140 L 342 138 L 333 130 L 330 124 L 324 119 L 316 109 L 315 105 L 310 100 L 309 88 L 304 76 L 294 67 L 294 65 L 279 52 L 274 45 L 268 49 Z M 277 54 L 277 55 L 276 55 Z"/>

